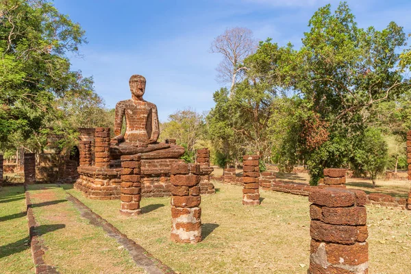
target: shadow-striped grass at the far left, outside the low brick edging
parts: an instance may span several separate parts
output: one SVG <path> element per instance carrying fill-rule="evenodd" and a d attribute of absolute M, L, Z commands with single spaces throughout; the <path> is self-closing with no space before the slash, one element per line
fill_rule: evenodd
<path fill-rule="evenodd" d="M 34 273 L 23 186 L 0 188 L 0 273 Z"/>

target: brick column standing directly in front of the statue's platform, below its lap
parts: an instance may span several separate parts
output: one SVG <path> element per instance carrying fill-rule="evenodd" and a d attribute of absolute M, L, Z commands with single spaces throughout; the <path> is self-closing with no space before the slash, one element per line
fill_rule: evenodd
<path fill-rule="evenodd" d="M 141 154 L 121 156 L 121 209 L 127 216 L 141 214 Z"/>

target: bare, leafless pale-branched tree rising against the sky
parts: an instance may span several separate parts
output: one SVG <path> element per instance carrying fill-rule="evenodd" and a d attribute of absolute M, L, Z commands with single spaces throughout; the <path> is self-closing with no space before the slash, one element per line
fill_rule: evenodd
<path fill-rule="evenodd" d="M 214 38 L 211 44 L 212 53 L 223 54 L 223 61 L 216 69 L 221 83 L 230 83 L 230 92 L 247 69 L 242 61 L 256 51 L 253 32 L 245 27 L 225 29 L 225 32 Z"/>

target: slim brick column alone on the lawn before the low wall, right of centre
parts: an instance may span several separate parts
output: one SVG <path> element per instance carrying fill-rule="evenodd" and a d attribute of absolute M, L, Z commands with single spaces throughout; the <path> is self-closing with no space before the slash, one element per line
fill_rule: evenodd
<path fill-rule="evenodd" d="M 258 155 L 245 155 L 242 157 L 242 204 L 245 206 L 260 204 L 258 159 Z"/>

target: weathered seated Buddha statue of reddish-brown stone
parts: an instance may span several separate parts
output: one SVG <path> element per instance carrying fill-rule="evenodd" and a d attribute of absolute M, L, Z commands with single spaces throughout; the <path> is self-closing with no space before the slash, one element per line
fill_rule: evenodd
<path fill-rule="evenodd" d="M 110 146 L 112 158 L 121 155 L 151 153 L 155 158 L 178 158 L 184 153 L 184 147 L 157 142 L 160 135 L 157 106 L 145 101 L 146 79 L 141 75 L 132 75 L 129 79 L 132 99 L 116 104 L 114 134 Z M 125 134 L 121 134 L 125 117 Z"/>

